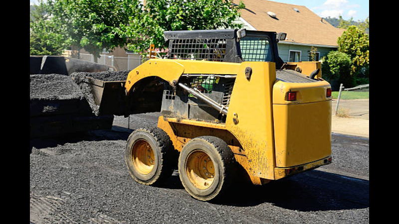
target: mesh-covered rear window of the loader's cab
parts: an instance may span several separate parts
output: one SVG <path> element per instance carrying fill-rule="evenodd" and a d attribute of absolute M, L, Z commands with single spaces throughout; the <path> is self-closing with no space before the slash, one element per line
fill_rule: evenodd
<path fill-rule="evenodd" d="M 272 61 L 267 37 L 245 36 L 240 39 L 241 57 L 244 61 Z"/>

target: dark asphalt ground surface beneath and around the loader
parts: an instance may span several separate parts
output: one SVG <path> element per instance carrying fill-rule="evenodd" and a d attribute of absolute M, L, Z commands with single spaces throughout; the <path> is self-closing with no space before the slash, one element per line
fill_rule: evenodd
<path fill-rule="evenodd" d="M 333 135 L 333 163 L 264 186 L 237 185 L 217 202 L 193 199 L 175 172 L 162 187 L 136 183 L 124 161 L 132 129 L 159 113 L 116 116 L 112 130 L 30 140 L 34 224 L 369 223 L 369 140 Z M 130 129 L 128 129 L 128 127 Z"/>

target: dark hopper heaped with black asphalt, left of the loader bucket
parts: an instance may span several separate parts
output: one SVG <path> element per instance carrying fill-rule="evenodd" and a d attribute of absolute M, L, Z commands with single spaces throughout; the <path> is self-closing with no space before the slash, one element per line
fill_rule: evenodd
<path fill-rule="evenodd" d="M 113 115 L 96 116 L 71 77 L 30 75 L 30 137 L 58 136 L 112 127 Z"/>

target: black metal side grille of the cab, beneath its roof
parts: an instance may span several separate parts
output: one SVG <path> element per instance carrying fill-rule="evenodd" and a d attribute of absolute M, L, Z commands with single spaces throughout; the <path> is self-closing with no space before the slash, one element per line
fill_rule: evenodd
<path fill-rule="evenodd" d="M 223 61 L 225 51 L 226 39 L 180 39 L 173 40 L 169 58 Z"/>

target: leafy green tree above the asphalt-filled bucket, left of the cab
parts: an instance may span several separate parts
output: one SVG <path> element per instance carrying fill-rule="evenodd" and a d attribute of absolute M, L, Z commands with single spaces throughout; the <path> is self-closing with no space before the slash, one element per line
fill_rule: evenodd
<path fill-rule="evenodd" d="M 123 47 L 120 27 L 138 13 L 139 0 L 47 0 L 52 21 L 77 49 L 84 48 L 97 62 L 103 49 Z"/>

